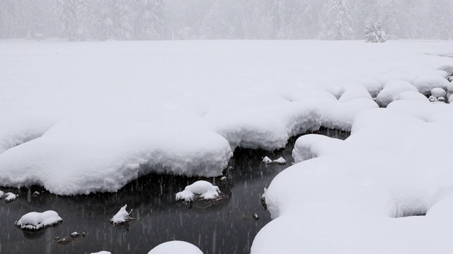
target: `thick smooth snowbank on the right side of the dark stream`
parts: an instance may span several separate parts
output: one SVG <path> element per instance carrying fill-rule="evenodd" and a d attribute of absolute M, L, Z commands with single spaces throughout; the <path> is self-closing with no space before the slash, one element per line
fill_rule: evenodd
<path fill-rule="evenodd" d="M 451 104 L 401 99 L 357 114 L 346 140 L 302 136 L 251 253 L 451 253 L 453 174 L 433 165 L 452 127 Z"/>

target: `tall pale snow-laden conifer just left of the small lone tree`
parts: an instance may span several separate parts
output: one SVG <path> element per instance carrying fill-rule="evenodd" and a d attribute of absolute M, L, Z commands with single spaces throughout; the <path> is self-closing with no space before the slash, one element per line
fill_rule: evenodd
<path fill-rule="evenodd" d="M 355 31 L 352 29 L 352 15 L 346 0 L 329 0 L 321 23 L 323 24 L 321 39 L 354 39 Z"/>

